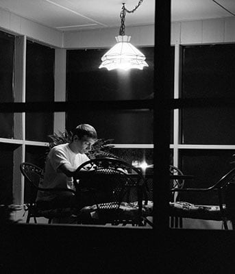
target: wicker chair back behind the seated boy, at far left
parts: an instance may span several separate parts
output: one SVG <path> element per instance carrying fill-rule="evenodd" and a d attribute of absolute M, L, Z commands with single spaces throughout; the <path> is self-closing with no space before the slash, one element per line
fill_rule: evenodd
<path fill-rule="evenodd" d="M 29 162 L 21 163 L 20 169 L 25 177 L 25 182 L 30 186 L 30 203 L 34 203 L 38 192 L 38 184 L 43 179 L 43 170 Z"/>

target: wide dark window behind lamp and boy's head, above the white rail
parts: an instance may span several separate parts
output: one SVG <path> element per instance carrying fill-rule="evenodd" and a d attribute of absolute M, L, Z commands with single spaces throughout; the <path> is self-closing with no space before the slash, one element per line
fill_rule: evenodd
<path fill-rule="evenodd" d="M 128 72 L 99 69 L 107 49 L 68 50 L 66 91 L 68 101 L 141 100 L 153 98 L 153 47 L 141 48 L 149 67 Z M 171 50 L 174 60 L 174 47 Z M 174 70 L 169 77 L 173 97 Z M 171 116 L 173 121 L 173 118 Z M 66 128 L 79 123 L 93 125 L 101 138 L 114 138 L 115 143 L 153 143 L 153 113 L 143 110 L 108 110 L 67 113 Z M 172 126 L 173 127 L 173 126 Z M 173 134 L 171 134 L 173 140 Z"/>

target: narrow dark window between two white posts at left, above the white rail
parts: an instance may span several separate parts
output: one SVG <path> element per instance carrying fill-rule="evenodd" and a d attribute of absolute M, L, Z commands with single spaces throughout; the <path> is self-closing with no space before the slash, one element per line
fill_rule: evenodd
<path fill-rule="evenodd" d="M 26 101 L 54 100 L 55 50 L 27 41 Z M 53 133 L 53 113 L 27 113 L 26 139 L 48 141 Z"/>

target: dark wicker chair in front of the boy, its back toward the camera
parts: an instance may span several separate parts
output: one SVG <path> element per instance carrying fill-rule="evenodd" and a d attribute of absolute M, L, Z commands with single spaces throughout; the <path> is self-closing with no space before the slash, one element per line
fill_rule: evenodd
<path fill-rule="evenodd" d="M 119 159 L 98 158 L 79 166 L 73 179 L 77 192 L 92 197 L 82 212 L 97 212 L 94 224 L 146 225 L 146 211 L 152 207 L 148 208 L 145 178 L 136 167 Z"/>

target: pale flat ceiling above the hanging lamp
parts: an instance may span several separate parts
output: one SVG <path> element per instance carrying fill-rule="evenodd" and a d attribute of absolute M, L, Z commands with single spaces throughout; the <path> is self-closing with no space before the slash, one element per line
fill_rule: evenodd
<path fill-rule="evenodd" d="M 133 10 L 139 0 L 126 0 Z M 120 27 L 123 0 L 0 0 L 0 9 L 62 32 Z M 223 7 L 221 7 L 221 5 Z M 127 13 L 126 26 L 154 23 L 155 0 L 144 0 Z M 235 16 L 235 0 L 171 0 L 172 21 Z"/>

